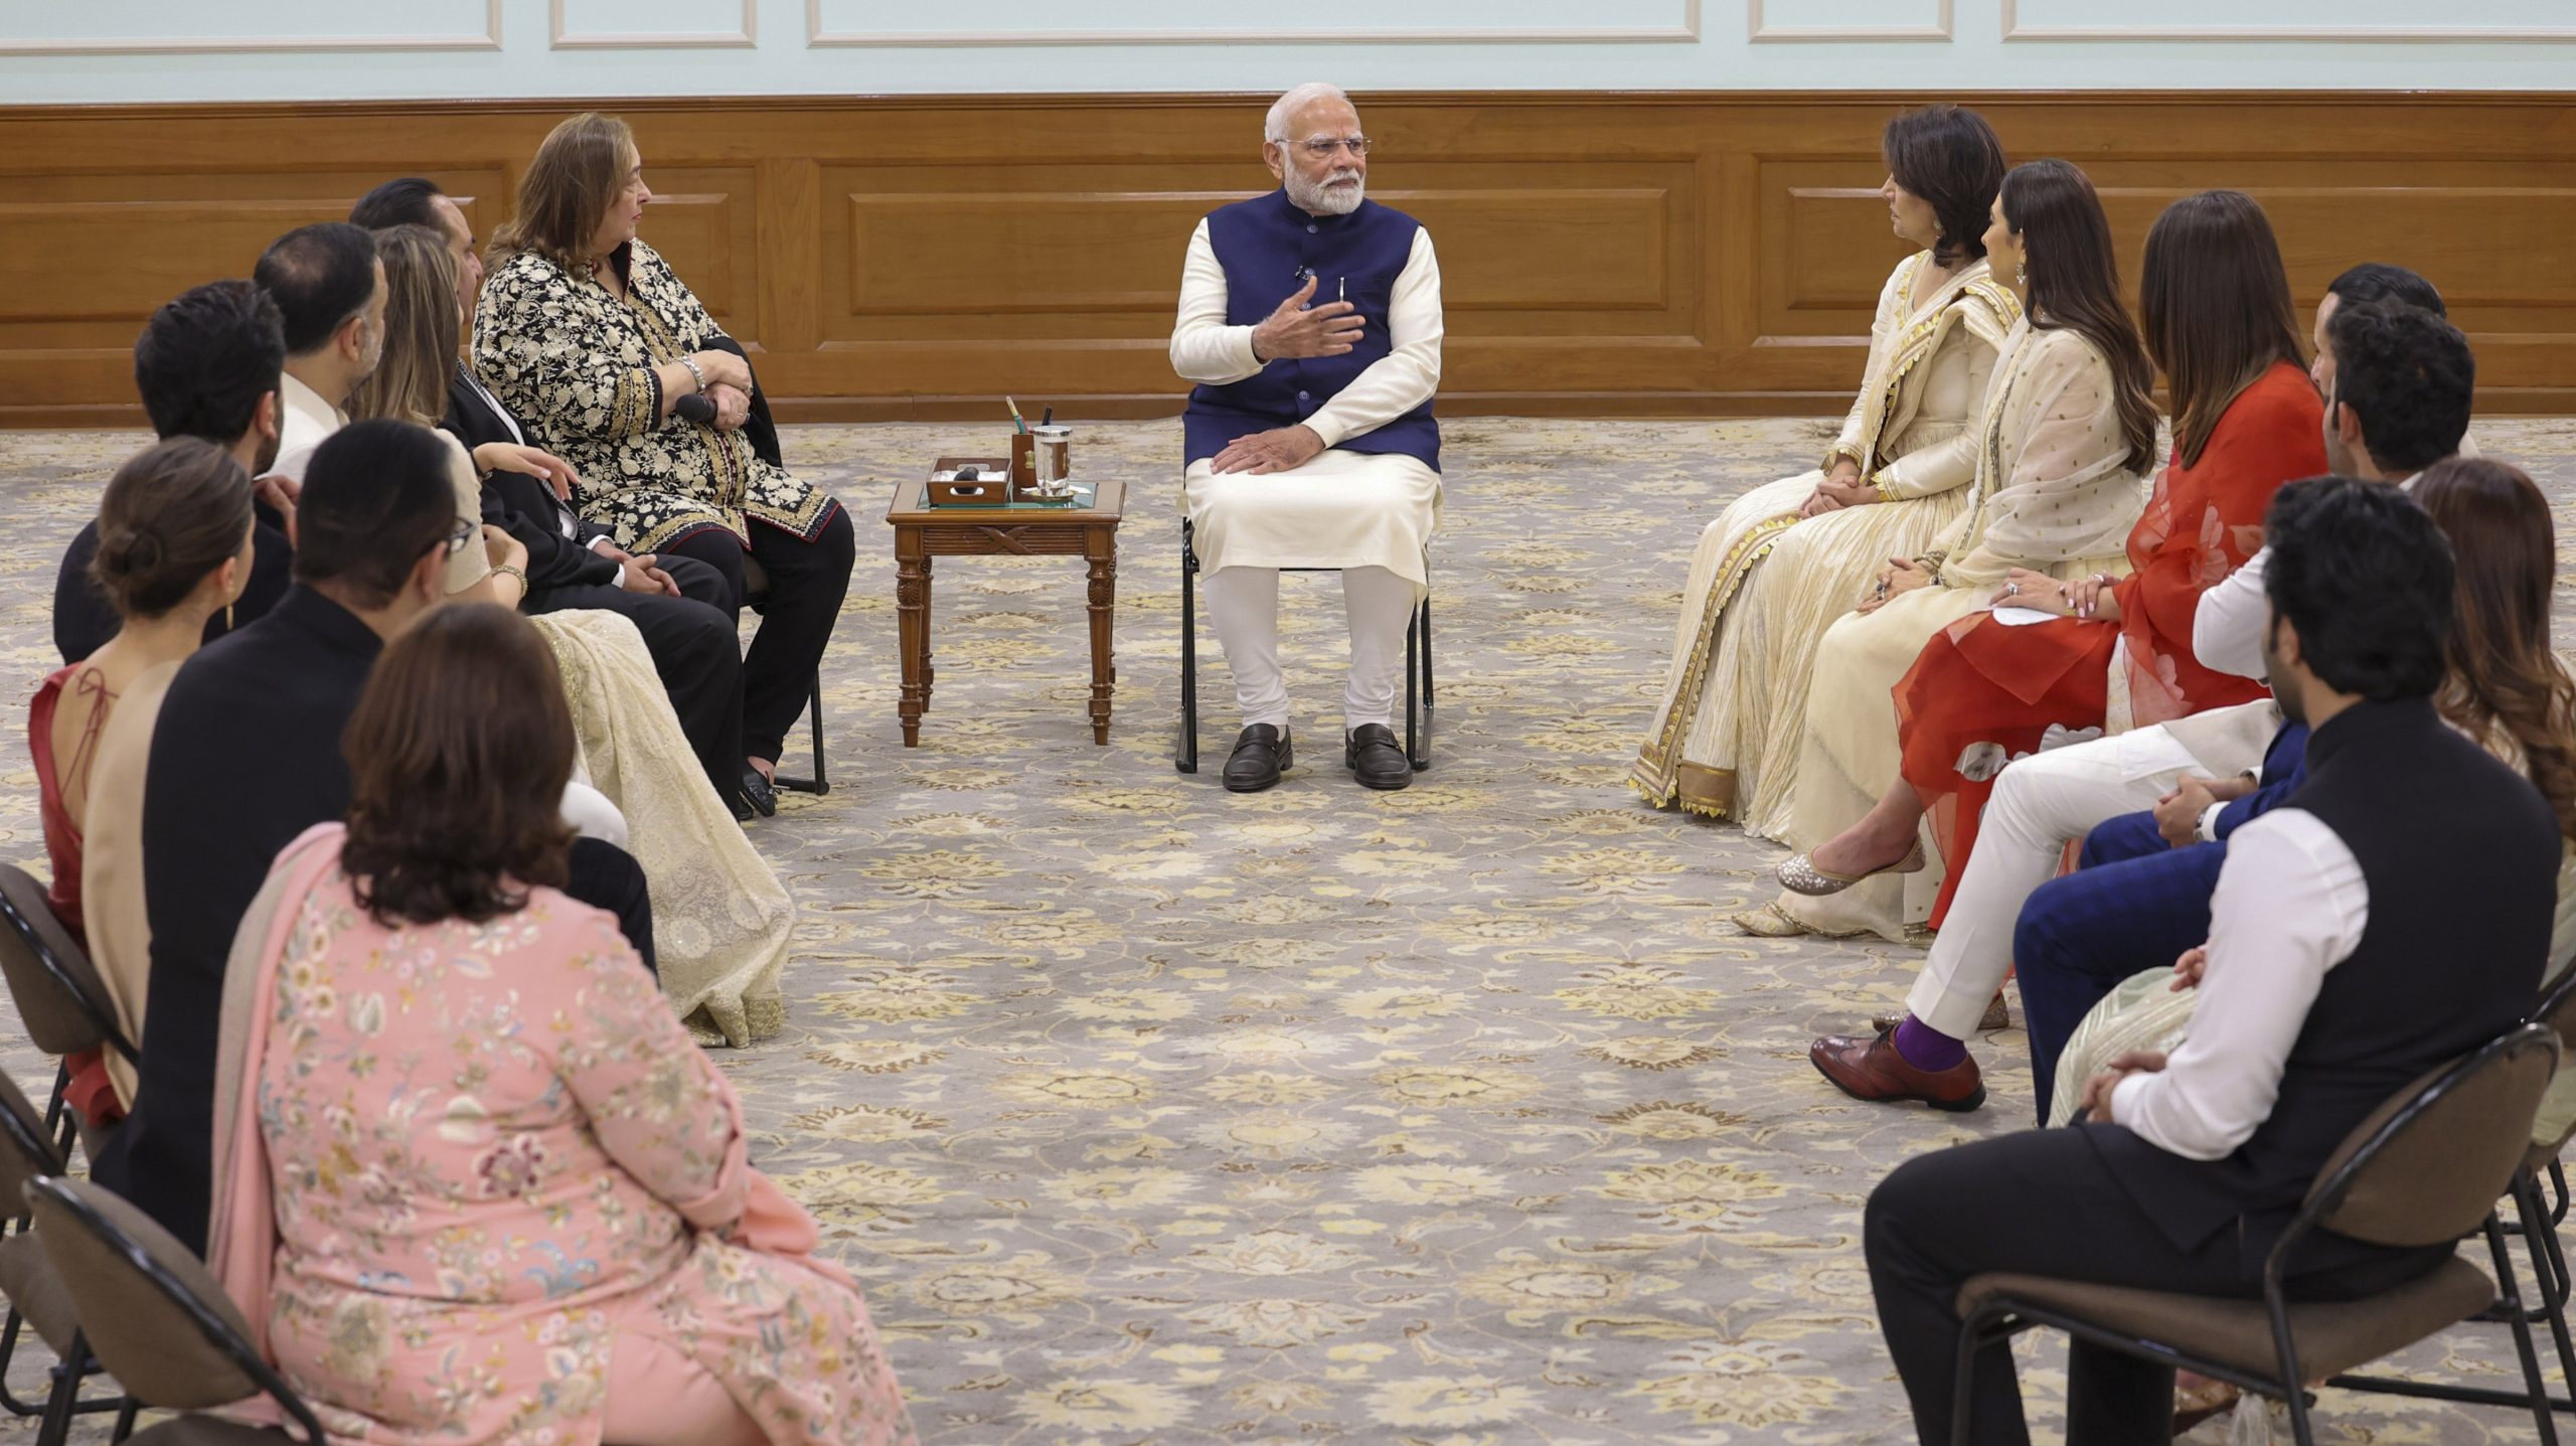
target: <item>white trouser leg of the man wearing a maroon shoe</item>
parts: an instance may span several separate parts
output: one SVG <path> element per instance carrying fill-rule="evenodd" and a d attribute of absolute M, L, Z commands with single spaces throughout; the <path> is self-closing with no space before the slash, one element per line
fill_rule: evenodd
<path fill-rule="evenodd" d="M 2012 969 L 2012 925 L 2022 902 L 2058 874 L 2066 845 L 2094 825 L 2156 807 L 2195 771 L 2200 766 L 2172 735 L 2141 727 L 2032 753 L 1996 773 L 1976 853 L 1932 936 L 1932 956 L 1914 977 L 1906 1010 L 1950 1039 L 1973 1039 L 1986 1000 Z"/>

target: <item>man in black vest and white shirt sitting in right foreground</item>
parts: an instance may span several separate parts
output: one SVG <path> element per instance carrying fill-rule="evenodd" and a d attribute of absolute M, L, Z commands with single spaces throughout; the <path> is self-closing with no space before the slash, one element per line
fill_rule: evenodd
<path fill-rule="evenodd" d="M 2558 820 L 2432 706 L 2450 544 L 2401 490 L 2349 477 L 2282 487 L 2264 534 L 2267 675 L 2311 729 L 2308 778 L 2228 840 L 2190 1039 L 2089 1080 L 2084 1124 L 1919 1155 L 1870 1193 L 1870 1291 L 1927 1446 L 1950 1443 L 1971 1276 L 2262 1294 L 2342 1139 L 2540 990 Z M 2285 1286 L 2360 1299 L 2450 1253 L 2316 1232 Z M 1973 1392 L 1973 1441 L 2030 1438 L 2009 1351 L 1981 1356 Z M 2166 1441 L 2172 1410 L 2172 1366 L 2071 1348 L 2066 1441 Z"/>

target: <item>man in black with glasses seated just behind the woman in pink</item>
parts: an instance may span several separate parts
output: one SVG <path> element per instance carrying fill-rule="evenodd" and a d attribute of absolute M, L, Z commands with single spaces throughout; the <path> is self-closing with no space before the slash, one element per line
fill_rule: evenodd
<path fill-rule="evenodd" d="M 144 773 L 144 907 L 152 985 L 142 1088 L 98 1178 L 204 1250 L 214 1173 L 214 1052 L 232 933 L 270 861 L 348 815 L 340 732 L 384 639 L 446 601 L 446 562 L 479 546 L 456 516 L 448 446 L 394 420 L 355 423 L 314 454 L 296 503 L 296 585 L 252 626 L 170 680 Z M 572 848 L 567 894 L 611 910 L 652 961 L 652 905 L 634 858 Z"/>

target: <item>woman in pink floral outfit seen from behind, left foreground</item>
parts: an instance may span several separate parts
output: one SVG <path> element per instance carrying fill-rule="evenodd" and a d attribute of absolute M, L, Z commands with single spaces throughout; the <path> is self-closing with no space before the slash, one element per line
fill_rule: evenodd
<path fill-rule="evenodd" d="M 348 755 L 348 825 L 278 856 L 234 941 L 209 1250 L 325 1428 L 909 1446 L 734 1090 L 559 892 L 572 724 L 536 631 L 425 616 Z"/>

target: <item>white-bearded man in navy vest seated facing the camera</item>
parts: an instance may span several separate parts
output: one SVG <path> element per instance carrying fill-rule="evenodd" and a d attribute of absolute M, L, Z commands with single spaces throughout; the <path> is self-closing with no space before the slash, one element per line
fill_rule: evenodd
<path fill-rule="evenodd" d="M 1440 263 L 1419 222 L 1368 198 L 1368 137 L 1337 88 L 1280 95 L 1262 160 L 1280 188 L 1198 224 L 1172 327 L 1172 371 L 1198 384 L 1182 500 L 1244 714 L 1226 789 L 1293 766 L 1283 567 L 1342 570 L 1342 763 L 1401 789 L 1396 675 L 1440 523 Z"/>

